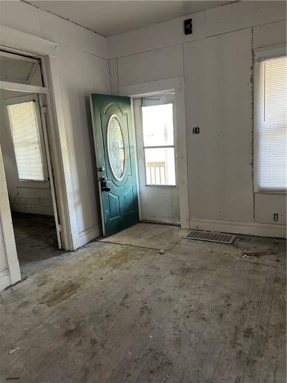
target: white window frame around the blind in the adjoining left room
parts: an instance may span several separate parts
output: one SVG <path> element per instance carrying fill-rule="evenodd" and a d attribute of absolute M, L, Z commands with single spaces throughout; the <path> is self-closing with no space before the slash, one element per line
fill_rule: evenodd
<path fill-rule="evenodd" d="M 47 165 L 47 156 L 46 156 L 46 148 L 45 148 L 45 142 L 44 142 L 44 134 L 43 134 L 43 127 L 42 127 L 42 119 L 40 114 L 40 101 L 39 101 L 39 95 L 38 94 L 29 94 L 27 96 L 19 96 L 19 97 L 13 97 L 13 98 L 7 98 L 4 99 L 4 107 L 5 107 L 5 117 L 6 117 L 6 124 L 7 128 L 10 134 L 10 142 L 11 147 L 14 150 L 14 143 L 12 138 L 12 132 L 10 128 L 9 123 L 9 115 L 8 115 L 8 105 L 15 105 L 15 104 L 22 104 L 25 102 L 34 101 L 35 102 L 35 111 L 36 111 L 36 118 L 38 123 L 38 132 L 39 132 L 39 141 L 40 141 L 40 147 L 41 147 L 41 153 L 43 158 L 43 169 L 44 169 L 44 181 L 35 181 L 35 180 L 20 180 L 18 175 L 18 167 L 17 162 L 15 158 L 15 152 L 14 155 L 14 164 L 15 169 L 17 170 L 17 187 L 26 187 L 26 188 L 38 188 L 38 189 L 49 189 L 50 188 L 50 182 L 49 182 L 49 173 L 48 173 L 48 165 Z"/>

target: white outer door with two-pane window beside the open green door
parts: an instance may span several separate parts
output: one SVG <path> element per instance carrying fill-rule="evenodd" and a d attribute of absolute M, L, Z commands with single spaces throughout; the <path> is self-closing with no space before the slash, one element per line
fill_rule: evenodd
<path fill-rule="evenodd" d="M 175 92 L 134 99 L 143 221 L 180 224 Z"/>

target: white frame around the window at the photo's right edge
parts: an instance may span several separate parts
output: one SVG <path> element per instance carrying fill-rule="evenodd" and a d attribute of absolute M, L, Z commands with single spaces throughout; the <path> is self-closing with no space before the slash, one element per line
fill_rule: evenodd
<path fill-rule="evenodd" d="M 287 56 L 286 44 L 280 44 L 265 48 L 254 49 L 254 109 L 253 109 L 253 143 L 254 143 L 254 162 L 253 162 L 253 189 L 254 193 L 260 194 L 283 194 L 286 195 L 287 189 L 261 189 L 259 186 L 259 64 L 260 62 L 276 57 Z"/>

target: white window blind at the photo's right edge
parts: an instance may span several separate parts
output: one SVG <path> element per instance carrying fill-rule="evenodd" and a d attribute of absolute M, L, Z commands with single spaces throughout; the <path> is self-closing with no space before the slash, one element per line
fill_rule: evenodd
<path fill-rule="evenodd" d="M 287 187 L 287 57 L 260 61 L 258 93 L 259 191 Z"/>

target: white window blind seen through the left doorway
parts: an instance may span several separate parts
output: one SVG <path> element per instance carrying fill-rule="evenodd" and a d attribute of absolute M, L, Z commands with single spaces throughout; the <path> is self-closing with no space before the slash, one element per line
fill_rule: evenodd
<path fill-rule="evenodd" d="M 45 181 L 35 102 L 7 105 L 19 180 Z"/>

